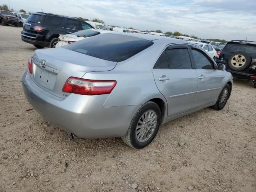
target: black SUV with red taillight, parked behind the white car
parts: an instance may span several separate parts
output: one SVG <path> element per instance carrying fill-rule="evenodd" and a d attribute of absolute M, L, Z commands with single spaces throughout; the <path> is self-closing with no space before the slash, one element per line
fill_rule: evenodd
<path fill-rule="evenodd" d="M 90 24 L 72 17 L 37 12 L 31 14 L 24 23 L 21 39 L 36 48 L 54 48 L 60 34 L 91 28 Z"/>

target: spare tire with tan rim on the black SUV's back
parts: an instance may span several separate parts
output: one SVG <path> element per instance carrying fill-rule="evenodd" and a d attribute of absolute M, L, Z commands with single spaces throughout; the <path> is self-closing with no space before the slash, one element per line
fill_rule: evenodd
<path fill-rule="evenodd" d="M 234 71 L 242 71 L 248 68 L 251 64 L 251 57 L 242 51 L 234 52 L 228 59 L 228 66 Z"/>

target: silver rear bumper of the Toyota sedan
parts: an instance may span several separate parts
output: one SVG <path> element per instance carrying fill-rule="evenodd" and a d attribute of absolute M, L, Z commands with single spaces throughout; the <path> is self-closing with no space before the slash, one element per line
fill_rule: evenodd
<path fill-rule="evenodd" d="M 80 138 L 124 136 L 136 106 L 104 107 L 108 95 L 84 96 L 70 94 L 62 99 L 38 87 L 28 70 L 22 78 L 24 94 L 30 104 L 50 122 Z"/>

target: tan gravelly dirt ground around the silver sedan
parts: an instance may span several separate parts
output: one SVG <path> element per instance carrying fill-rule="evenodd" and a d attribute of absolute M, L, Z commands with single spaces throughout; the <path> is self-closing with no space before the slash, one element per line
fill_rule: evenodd
<path fill-rule="evenodd" d="M 73 141 L 30 110 L 21 78 L 35 48 L 21 31 L 0 26 L 0 191 L 256 192 L 252 83 L 234 79 L 223 110 L 173 120 L 142 150 L 120 138 Z"/>

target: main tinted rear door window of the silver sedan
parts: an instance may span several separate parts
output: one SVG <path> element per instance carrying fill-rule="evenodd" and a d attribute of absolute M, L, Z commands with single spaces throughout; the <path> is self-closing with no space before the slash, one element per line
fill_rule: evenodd
<path fill-rule="evenodd" d="M 166 50 L 168 62 L 171 69 L 191 69 L 188 48 L 176 48 Z"/>

